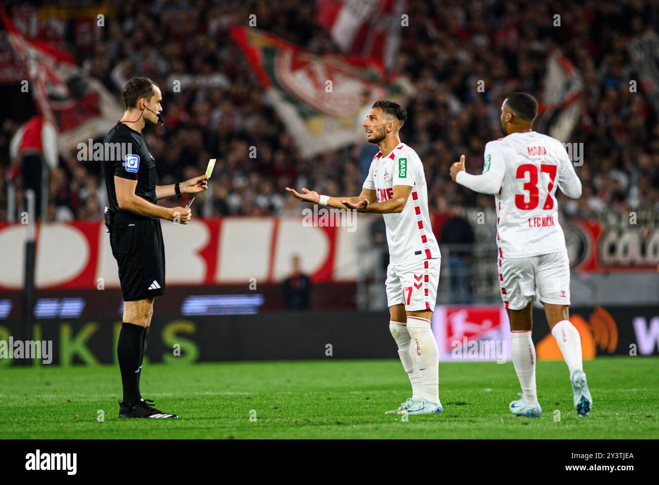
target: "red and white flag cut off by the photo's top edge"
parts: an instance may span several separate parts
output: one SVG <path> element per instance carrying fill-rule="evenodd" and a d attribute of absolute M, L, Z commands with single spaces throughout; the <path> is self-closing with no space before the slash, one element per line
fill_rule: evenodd
<path fill-rule="evenodd" d="M 318 0 L 318 22 L 345 53 L 395 69 L 406 0 Z"/>

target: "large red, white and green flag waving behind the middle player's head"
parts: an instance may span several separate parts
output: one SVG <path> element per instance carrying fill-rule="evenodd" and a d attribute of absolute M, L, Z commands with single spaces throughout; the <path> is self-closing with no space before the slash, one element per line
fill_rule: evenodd
<path fill-rule="evenodd" d="M 387 77 L 365 57 L 314 55 L 255 28 L 234 28 L 231 36 L 302 157 L 352 144 L 359 133 L 364 140 L 366 107 L 383 98 L 403 103 L 412 91 L 407 80 Z"/>

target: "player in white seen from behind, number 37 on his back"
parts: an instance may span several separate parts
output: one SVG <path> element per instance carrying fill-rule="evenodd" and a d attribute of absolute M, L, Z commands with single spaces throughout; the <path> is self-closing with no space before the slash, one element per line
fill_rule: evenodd
<path fill-rule="evenodd" d="M 583 372 L 581 337 L 569 321 L 570 268 L 563 229 L 558 223 L 556 188 L 581 197 L 581 181 L 561 142 L 532 130 L 538 103 L 526 93 L 513 93 L 501 105 L 504 138 L 485 146 L 482 175 L 465 171 L 465 156 L 451 166 L 451 179 L 482 194 L 495 194 L 501 299 L 512 332 L 513 365 L 522 398 L 513 414 L 539 418 L 536 353 L 531 339 L 532 304 L 538 295 L 552 335 L 569 370 L 578 416 L 592 407 Z"/>

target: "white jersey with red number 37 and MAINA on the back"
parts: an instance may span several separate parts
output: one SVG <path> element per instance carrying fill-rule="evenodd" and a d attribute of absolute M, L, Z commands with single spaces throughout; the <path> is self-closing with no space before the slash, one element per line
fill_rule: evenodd
<path fill-rule="evenodd" d="M 561 142 L 534 131 L 511 133 L 485 146 L 483 175 L 462 175 L 458 183 L 496 193 L 497 245 L 501 258 L 527 258 L 565 251 L 558 223 L 556 188 L 581 196 L 581 181 Z M 476 180 L 480 177 L 480 180 Z M 477 182 L 477 183 L 476 183 Z M 491 190 L 494 188 L 494 190 Z"/>

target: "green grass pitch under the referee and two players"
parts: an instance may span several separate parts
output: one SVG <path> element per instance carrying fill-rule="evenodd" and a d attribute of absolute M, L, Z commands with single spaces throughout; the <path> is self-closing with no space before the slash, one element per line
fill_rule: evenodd
<path fill-rule="evenodd" d="M 594 399 L 590 416 L 577 418 L 565 364 L 538 362 L 543 414 L 529 420 L 507 410 L 519 391 L 511 362 L 441 362 L 444 414 L 405 422 L 384 414 L 410 394 L 393 359 L 145 364 L 142 394 L 178 420 L 119 419 L 115 366 L 5 367 L 0 436 L 659 438 L 659 358 L 597 358 L 585 370 Z"/>

